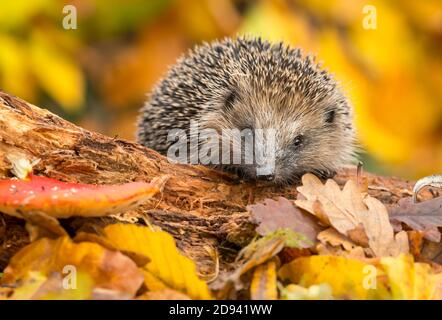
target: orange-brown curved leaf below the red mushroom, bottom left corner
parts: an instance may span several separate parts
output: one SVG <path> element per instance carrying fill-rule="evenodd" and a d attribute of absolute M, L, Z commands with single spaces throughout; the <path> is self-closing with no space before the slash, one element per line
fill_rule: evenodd
<path fill-rule="evenodd" d="M 4 271 L 2 284 L 14 284 L 31 272 L 49 276 L 66 273 L 66 266 L 84 272 L 93 279 L 94 288 L 120 291 L 134 296 L 144 277 L 136 264 L 117 251 L 96 243 L 74 243 L 68 237 L 32 242 L 14 255 Z"/>

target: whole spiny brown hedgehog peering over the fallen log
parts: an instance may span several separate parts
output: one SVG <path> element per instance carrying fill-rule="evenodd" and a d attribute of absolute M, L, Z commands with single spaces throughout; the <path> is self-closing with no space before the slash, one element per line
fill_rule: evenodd
<path fill-rule="evenodd" d="M 307 172 L 332 177 L 355 159 L 353 108 L 338 82 L 301 49 L 259 37 L 183 55 L 153 87 L 137 127 L 138 142 L 171 161 L 275 184 Z M 177 150 L 184 156 L 174 158 Z"/>

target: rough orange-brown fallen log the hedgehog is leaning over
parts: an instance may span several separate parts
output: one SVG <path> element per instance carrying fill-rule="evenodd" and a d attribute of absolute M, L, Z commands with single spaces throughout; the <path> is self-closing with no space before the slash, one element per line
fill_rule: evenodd
<path fill-rule="evenodd" d="M 11 164 L 6 159 L 10 153 L 39 158 L 35 174 L 69 182 L 116 184 L 170 175 L 161 195 L 137 210 L 122 213 L 119 219 L 148 220 L 170 232 L 178 247 L 194 259 L 200 272 L 205 274 L 213 273 L 215 265 L 207 248 L 219 252 L 223 269 L 228 267 L 227 262 L 236 250 L 253 237 L 255 225 L 246 210 L 248 204 L 278 196 L 295 199 L 297 195 L 295 186 L 246 182 L 203 166 L 172 164 L 139 144 L 90 132 L 0 92 L 1 178 L 11 176 Z M 356 169 L 349 168 L 340 172 L 335 180 L 343 184 L 355 175 Z M 364 179 L 369 193 L 386 204 L 411 195 L 412 184 L 407 181 L 370 174 L 365 174 Z M 69 220 L 69 224 L 76 230 L 109 223 L 109 218 L 74 220 Z M 0 214 L 0 270 L 11 255 L 27 243 L 27 240 L 18 240 L 26 236 L 19 225 L 15 218 Z"/>

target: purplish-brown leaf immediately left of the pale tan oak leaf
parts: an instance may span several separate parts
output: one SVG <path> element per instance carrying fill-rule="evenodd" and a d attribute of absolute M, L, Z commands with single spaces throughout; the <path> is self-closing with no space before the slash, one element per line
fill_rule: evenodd
<path fill-rule="evenodd" d="M 247 206 L 252 217 L 259 223 L 256 232 L 265 236 L 278 229 L 291 229 L 307 237 L 311 244 L 304 244 L 304 248 L 311 247 L 316 242 L 316 236 L 321 228 L 316 219 L 301 212 L 284 197 L 278 201 L 265 199 L 263 203 Z"/>

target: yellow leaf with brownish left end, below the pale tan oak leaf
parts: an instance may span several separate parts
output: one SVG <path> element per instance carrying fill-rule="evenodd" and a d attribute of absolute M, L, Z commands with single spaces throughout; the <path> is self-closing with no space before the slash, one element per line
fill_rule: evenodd
<path fill-rule="evenodd" d="M 338 299 L 390 298 L 381 281 L 382 272 L 360 260 L 338 256 L 303 257 L 284 265 L 279 276 L 302 287 L 326 283 Z"/>

